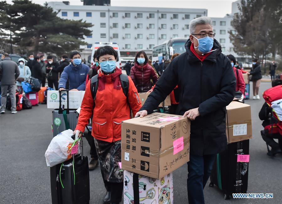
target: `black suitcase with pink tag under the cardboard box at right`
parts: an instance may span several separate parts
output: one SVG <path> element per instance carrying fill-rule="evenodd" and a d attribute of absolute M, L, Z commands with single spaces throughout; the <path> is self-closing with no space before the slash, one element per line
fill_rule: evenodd
<path fill-rule="evenodd" d="M 209 186 L 214 184 L 229 200 L 232 193 L 246 193 L 248 188 L 248 162 L 237 162 L 237 155 L 249 154 L 249 140 L 228 144 L 224 152 L 217 154 L 210 175 Z"/>

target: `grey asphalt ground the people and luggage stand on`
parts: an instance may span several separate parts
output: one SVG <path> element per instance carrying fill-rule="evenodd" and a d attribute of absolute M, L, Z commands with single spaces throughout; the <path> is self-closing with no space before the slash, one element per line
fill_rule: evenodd
<path fill-rule="evenodd" d="M 262 82 L 262 92 L 271 86 Z M 261 97 L 262 98 L 262 97 Z M 273 193 L 273 199 L 224 200 L 217 187 L 205 187 L 205 202 L 220 203 L 282 203 L 282 154 L 274 158 L 266 155 L 266 144 L 260 136 L 262 129 L 258 112 L 261 100 L 248 100 L 252 108 L 253 139 L 250 140 L 249 193 Z M 40 104 L 16 115 L 8 111 L 0 117 L 0 203 L 51 203 L 50 169 L 44 153 L 52 139 L 51 109 Z M 89 145 L 84 142 L 84 153 L 89 157 Z M 174 203 L 187 201 L 187 165 L 173 172 Z M 100 169 L 90 172 L 90 203 L 100 204 L 104 196 L 104 184 Z"/>

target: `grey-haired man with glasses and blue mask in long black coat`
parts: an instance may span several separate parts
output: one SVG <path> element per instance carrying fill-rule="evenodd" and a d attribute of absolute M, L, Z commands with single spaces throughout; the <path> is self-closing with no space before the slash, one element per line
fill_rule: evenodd
<path fill-rule="evenodd" d="M 195 18 L 189 27 L 186 52 L 172 60 L 136 116 L 152 113 L 178 85 L 176 112 L 191 120 L 188 200 L 205 203 L 203 189 L 216 154 L 227 147 L 226 106 L 234 97 L 236 79 L 230 60 L 213 38 L 211 19 Z"/>

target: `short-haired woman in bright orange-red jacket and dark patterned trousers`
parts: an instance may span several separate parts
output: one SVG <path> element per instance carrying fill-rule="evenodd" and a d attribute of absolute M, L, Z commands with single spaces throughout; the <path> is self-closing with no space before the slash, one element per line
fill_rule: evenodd
<path fill-rule="evenodd" d="M 123 191 L 123 172 L 118 166 L 121 162 L 121 121 L 130 119 L 130 109 L 135 115 L 141 102 L 129 76 L 126 76 L 129 79 L 128 97 L 125 97 L 120 81 L 121 69 L 116 67 L 117 52 L 110 46 L 99 47 L 96 52 L 101 68 L 98 70 L 95 107 L 91 83 L 88 82 L 74 133 L 84 132 L 93 114 L 92 136 L 107 190 L 103 202 L 114 204 L 121 202 Z"/>

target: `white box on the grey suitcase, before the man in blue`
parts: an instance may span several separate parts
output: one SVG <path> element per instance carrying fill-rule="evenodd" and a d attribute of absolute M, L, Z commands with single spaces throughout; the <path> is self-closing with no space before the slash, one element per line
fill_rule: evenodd
<path fill-rule="evenodd" d="M 69 91 L 69 109 L 77 109 L 81 106 L 81 102 L 85 91 Z M 47 108 L 59 108 L 59 91 L 47 91 Z M 61 104 L 67 108 L 67 92 L 61 93 Z"/>

